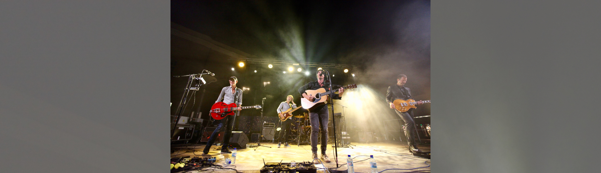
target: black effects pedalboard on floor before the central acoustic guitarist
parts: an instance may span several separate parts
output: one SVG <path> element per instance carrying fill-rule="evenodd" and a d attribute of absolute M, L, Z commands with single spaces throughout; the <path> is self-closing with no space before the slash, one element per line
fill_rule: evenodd
<path fill-rule="evenodd" d="M 264 163 L 263 168 L 259 172 L 261 173 L 316 173 L 317 168 L 311 162 L 299 162 L 294 165 L 291 163 L 281 163 L 281 162 L 270 162 Z"/>

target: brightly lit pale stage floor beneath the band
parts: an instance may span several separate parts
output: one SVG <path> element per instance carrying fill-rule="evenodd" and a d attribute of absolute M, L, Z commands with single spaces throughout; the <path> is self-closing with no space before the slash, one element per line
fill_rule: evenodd
<path fill-rule="evenodd" d="M 256 143 L 249 143 L 256 144 Z M 393 169 L 388 170 L 383 173 L 390 172 L 412 172 L 412 171 L 420 171 L 420 172 L 428 172 L 430 168 L 419 168 L 426 167 L 430 164 L 430 159 L 424 159 L 420 157 L 412 156 L 407 150 L 406 145 L 388 143 L 388 142 L 377 142 L 370 144 L 359 144 L 359 143 L 351 143 L 353 148 L 338 148 L 338 164 L 346 163 L 347 155 L 351 155 L 351 157 L 359 156 L 353 159 L 355 163 L 355 172 L 371 172 L 370 171 L 370 155 L 374 156 L 377 162 L 378 171 L 383 171 L 384 169 Z M 284 147 L 282 144 L 281 148 L 277 148 L 277 144 L 272 144 L 271 142 L 261 143 L 261 145 L 265 145 L 272 148 L 267 147 L 259 147 L 256 151 L 255 147 L 245 148 L 242 150 L 238 150 L 238 155 L 236 158 L 236 163 L 233 165 L 236 166 L 238 172 L 249 172 L 249 173 L 258 173 L 259 170 L 263 167 L 263 159 L 265 162 L 290 162 L 294 160 L 299 163 L 302 161 L 311 161 L 311 145 L 301 145 L 297 147 L 297 145 L 292 145 L 292 147 Z M 319 148 L 320 145 L 317 145 Z M 202 156 L 202 150 L 205 145 L 196 145 L 196 146 L 188 146 L 188 147 L 174 147 L 174 148 L 182 148 L 181 150 L 176 150 L 174 153 L 171 153 L 171 157 L 183 157 L 190 156 L 192 157 L 216 157 L 217 165 L 228 166 L 224 164 L 224 159 L 231 156 L 231 154 L 219 154 L 216 156 Z M 216 145 L 213 145 L 212 151 L 215 154 L 219 153 L 219 150 L 216 150 Z M 430 145 L 418 145 L 419 149 L 422 151 L 430 151 Z M 219 146 L 221 148 L 221 146 Z M 185 153 L 186 151 L 191 151 L 190 149 L 194 149 L 197 152 L 194 153 Z M 387 151 L 387 153 L 381 151 L 374 150 L 382 150 Z M 319 154 L 321 151 L 317 151 Z M 336 168 L 336 163 L 334 160 L 334 150 L 331 145 L 328 144 L 328 156 L 332 162 L 326 163 L 324 162 L 327 168 Z M 178 154 L 183 153 L 183 154 Z M 176 155 L 177 154 L 177 155 Z M 396 155 L 394 155 L 396 154 Z M 406 155 L 406 156 L 399 156 Z M 321 156 L 321 154 L 319 154 Z M 283 160 L 283 161 L 282 161 Z M 357 162 L 359 160 L 364 160 L 361 162 Z M 424 163 L 427 161 L 427 164 Z M 320 167 L 320 165 L 316 165 L 316 167 Z M 227 168 L 233 168 L 233 166 L 228 166 Z M 346 168 L 346 165 L 344 165 Z M 419 169 L 412 169 L 419 168 Z M 411 170 L 398 170 L 398 169 L 411 169 Z M 190 171 L 190 172 L 199 172 L 199 171 Z M 204 171 L 203 171 L 204 172 Z M 235 172 L 233 170 L 227 170 L 227 172 Z M 323 169 L 317 172 L 324 172 Z"/>

